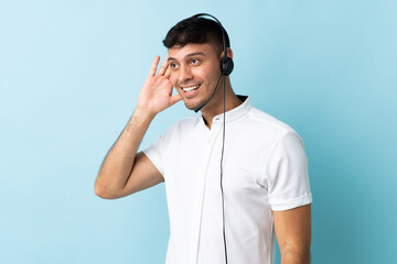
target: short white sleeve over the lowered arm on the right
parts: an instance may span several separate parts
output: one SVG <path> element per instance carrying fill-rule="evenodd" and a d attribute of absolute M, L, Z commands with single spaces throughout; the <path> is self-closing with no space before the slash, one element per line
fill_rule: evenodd
<path fill-rule="evenodd" d="M 312 202 L 308 157 L 303 142 L 293 131 L 286 133 L 266 166 L 266 185 L 271 209 L 282 211 Z"/>

